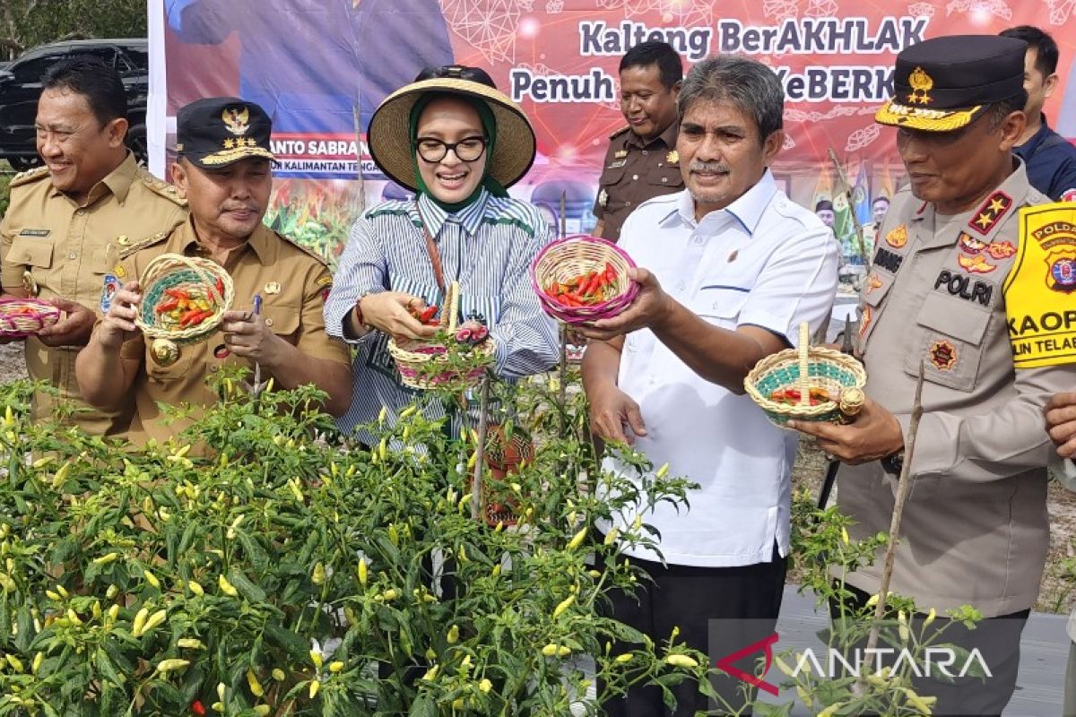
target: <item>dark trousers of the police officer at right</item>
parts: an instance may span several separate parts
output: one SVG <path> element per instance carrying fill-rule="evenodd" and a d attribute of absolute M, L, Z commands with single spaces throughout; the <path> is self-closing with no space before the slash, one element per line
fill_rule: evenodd
<path fill-rule="evenodd" d="M 854 598 L 846 604 L 846 610 L 859 611 L 866 605 L 869 594 L 863 590 L 853 588 L 850 585 L 846 589 L 851 590 Z M 836 618 L 839 615 L 839 604 L 831 601 L 830 616 Z M 1031 615 L 1030 610 L 1001 615 L 980 620 L 975 625 L 974 630 L 968 630 L 963 622 L 958 622 L 944 617 L 937 619 L 926 628 L 928 631 L 943 630 L 942 634 L 933 641 L 933 646 L 946 644 L 955 645 L 968 653 L 978 649 L 982 656 L 982 662 L 990 671 L 990 675 L 985 679 L 965 675 L 964 677 L 953 677 L 953 682 L 946 682 L 944 678 L 931 677 L 924 674 L 922 677 L 912 676 L 912 688 L 922 697 L 936 697 L 938 699 L 933 708 L 935 717 L 952 716 L 957 717 L 990 717 L 1001 715 L 1005 705 L 1016 690 L 1017 671 L 1020 666 L 1020 633 Z M 925 615 L 916 615 L 909 620 L 909 629 L 915 634 L 920 634 L 923 630 Z M 865 642 L 865 641 L 864 641 Z M 879 641 L 879 646 L 883 646 Z M 935 664 L 936 664 L 935 659 Z M 963 658 L 950 669 L 952 673 L 959 673 L 966 664 Z"/>

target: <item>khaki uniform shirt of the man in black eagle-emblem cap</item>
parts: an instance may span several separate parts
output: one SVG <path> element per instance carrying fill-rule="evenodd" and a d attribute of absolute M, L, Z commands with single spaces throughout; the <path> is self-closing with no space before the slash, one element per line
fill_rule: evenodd
<path fill-rule="evenodd" d="M 170 233 L 132 247 L 121 258 L 116 273 L 124 274 L 125 282 L 139 277 L 152 259 L 166 253 L 200 254 L 190 219 Z M 332 278 L 324 261 L 259 225 L 246 246 L 231 253 L 225 268 L 236 286 L 233 309 L 251 310 L 254 295 L 259 293 L 266 325 L 280 338 L 308 356 L 350 365 L 348 346 L 325 333 L 322 310 Z M 206 376 L 218 367 L 245 365 L 253 377 L 254 363 L 227 354 L 220 330 L 204 341 L 180 346 L 179 360 L 167 367 L 151 357 L 151 345 L 152 342 L 147 343 L 140 334 L 125 342 L 121 349 L 124 359 L 137 359 L 142 363 L 132 386 L 138 408 L 131 421 L 133 443 L 144 443 L 148 439 L 162 442 L 190 424 L 165 425 L 158 401 L 170 405 L 216 402 L 218 397 L 206 385 Z M 271 375 L 263 370 L 261 381 L 268 381 Z M 280 384 L 279 378 L 277 383 Z"/>

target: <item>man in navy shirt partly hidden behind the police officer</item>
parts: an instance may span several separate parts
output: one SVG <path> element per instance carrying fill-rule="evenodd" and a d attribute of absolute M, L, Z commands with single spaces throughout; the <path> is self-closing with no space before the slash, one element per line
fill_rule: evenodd
<path fill-rule="evenodd" d="M 1003 30 L 1004 38 L 1028 43 L 1023 88 L 1028 90 L 1028 127 L 1013 148 L 1028 167 L 1031 186 L 1054 201 L 1076 199 L 1076 147 L 1046 124 L 1043 104 L 1058 86 L 1058 43 L 1031 25 Z"/>

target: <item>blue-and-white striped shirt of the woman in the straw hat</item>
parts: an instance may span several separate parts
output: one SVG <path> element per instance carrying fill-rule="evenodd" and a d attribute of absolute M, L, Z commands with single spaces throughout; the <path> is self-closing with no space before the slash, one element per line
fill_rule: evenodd
<path fill-rule="evenodd" d="M 490 327 L 497 342 L 494 370 L 512 381 L 556 363 L 556 326 L 541 310 L 530 286 L 530 262 L 553 238 L 537 207 L 485 190 L 478 201 L 449 214 L 425 195 L 368 210 L 355 223 L 325 302 L 329 335 L 357 348 L 352 364 L 351 407 L 337 424 L 351 432 L 374 420 L 382 406 L 399 412 L 415 391 L 404 386 L 388 354 L 388 339 L 371 331 L 344 335 L 343 321 L 360 296 L 405 291 L 442 303 L 426 249 L 423 227 L 437 243 L 447 284 L 459 284 L 459 322 L 471 318 Z M 434 406 L 430 417 L 441 412 Z"/>

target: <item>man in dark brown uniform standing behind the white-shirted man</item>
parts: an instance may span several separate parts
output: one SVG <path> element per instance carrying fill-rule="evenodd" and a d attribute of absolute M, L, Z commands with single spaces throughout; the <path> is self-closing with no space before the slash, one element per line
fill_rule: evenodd
<path fill-rule="evenodd" d="M 609 135 L 594 216 L 594 235 L 618 241 L 635 207 L 683 189 L 676 153 L 676 98 L 683 67 L 666 42 L 643 42 L 620 60 L 620 111 L 627 127 Z"/>

